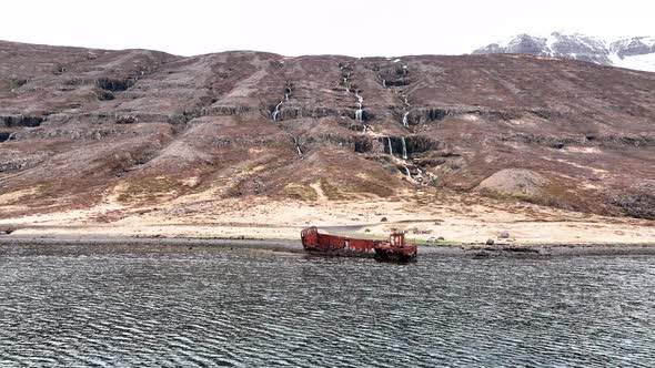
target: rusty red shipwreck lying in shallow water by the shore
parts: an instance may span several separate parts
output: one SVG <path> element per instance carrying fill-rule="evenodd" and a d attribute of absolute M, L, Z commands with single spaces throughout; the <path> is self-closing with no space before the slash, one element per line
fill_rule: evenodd
<path fill-rule="evenodd" d="M 302 245 L 308 253 L 341 257 L 371 257 L 376 260 L 415 262 L 417 247 L 407 244 L 402 233 L 389 239 L 373 241 L 320 233 L 316 227 L 301 232 Z"/>

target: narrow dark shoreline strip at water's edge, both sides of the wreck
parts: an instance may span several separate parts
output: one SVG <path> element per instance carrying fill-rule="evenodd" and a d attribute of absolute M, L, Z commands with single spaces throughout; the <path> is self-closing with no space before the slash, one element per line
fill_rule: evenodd
<path fill-rule="evenodd" d="M 304 253 L 300 239 L 219 238 L 219 237 L 148 237 L 108 235 L 0 235 L 0 246 L 88 245 L 88 246 L 211 246 Z M 627 256 L 655 255 L 655 244 L 453 244 L 420 245 L 420 255 L 467 256 L 473 258 L 547 258 L 552 256 Z"/>

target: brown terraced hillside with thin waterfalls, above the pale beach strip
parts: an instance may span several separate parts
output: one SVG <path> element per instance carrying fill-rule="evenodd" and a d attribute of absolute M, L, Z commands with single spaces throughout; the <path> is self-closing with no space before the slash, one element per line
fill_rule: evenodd
<path fill-rule="evenodd" d="M 655 73 L 532 55 L 182 58 L 0 42 L 0 194 L 29 193 L 2 215 L 108 193 L 139 205 L 202 191 L 314 201 L 437 188 L 649 216 L 654 91 Z"/>

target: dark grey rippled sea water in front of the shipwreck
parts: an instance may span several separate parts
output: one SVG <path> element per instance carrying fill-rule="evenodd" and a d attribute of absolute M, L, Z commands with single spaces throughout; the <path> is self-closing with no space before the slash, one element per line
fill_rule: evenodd
<path fill-rule="evenodd" d="M 0 246 L 0 366 L 653 367 L 649 257 Z"/>

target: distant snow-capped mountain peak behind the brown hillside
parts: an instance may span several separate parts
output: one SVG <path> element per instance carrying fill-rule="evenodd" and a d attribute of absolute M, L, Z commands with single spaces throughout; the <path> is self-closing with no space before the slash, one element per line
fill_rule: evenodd
<path fill-rule="evenodd" d="M 523 33 L 477 49 L 473 53 L 526 53 L 655 72 L 654 37 L 605 41 L 580 33 L 553 32 L 547 35 Z"/>

